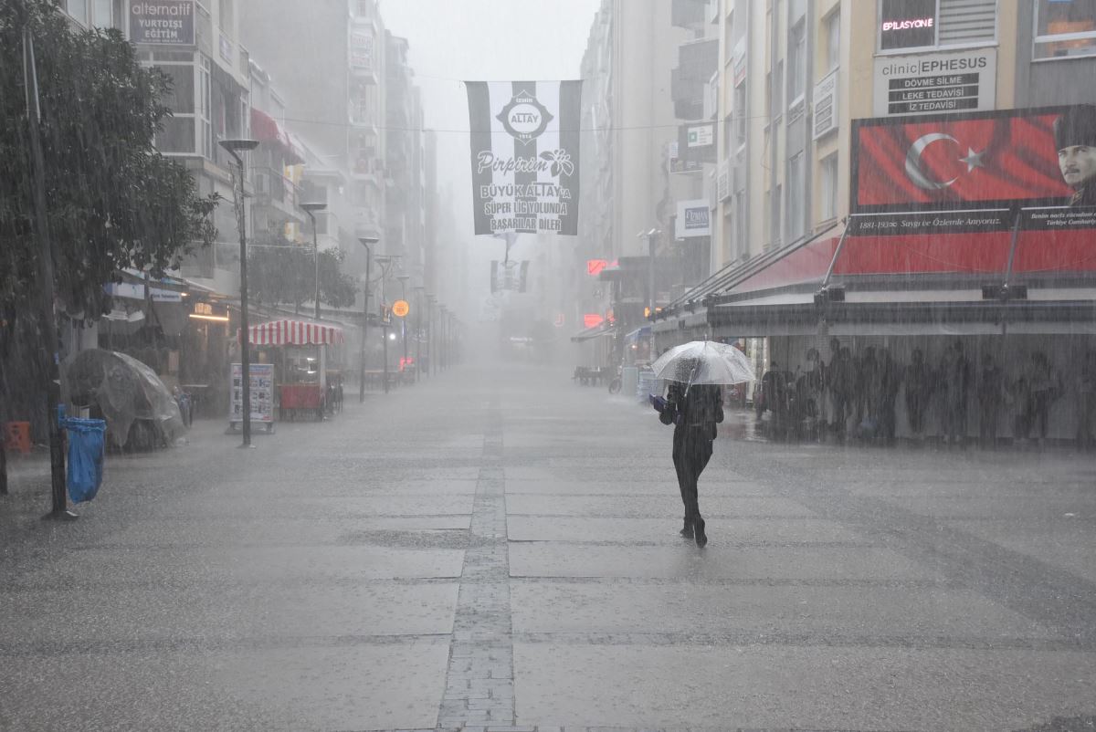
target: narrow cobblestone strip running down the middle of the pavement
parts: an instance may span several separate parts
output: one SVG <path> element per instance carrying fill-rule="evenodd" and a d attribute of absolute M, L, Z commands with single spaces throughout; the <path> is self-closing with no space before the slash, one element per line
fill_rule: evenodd
<path fill-rule="evenodd" d="M 514 723 L 514 650 L 510 554 L 502 471 L 502 412 L 488 407 L 483 461 L 472 503 L 471 536 L 460 574 L 439 728 Z"/>

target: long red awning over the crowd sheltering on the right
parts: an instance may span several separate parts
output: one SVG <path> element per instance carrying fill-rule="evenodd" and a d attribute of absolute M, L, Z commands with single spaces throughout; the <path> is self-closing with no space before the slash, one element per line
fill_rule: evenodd
<path fill-rule="evenodd" d="M 833 334 L 1088 332 L 1096 236 L 1084 213 L 1068 216 L 1053 227 L 1043 221 L 1065 218 L 1063 209 L 853 216 L 841 237 L 717 273 L 661 313 L 655 330 L 792 335 L 824 323 Z M 917 232 L 883 233 L 894 221 Z"/>

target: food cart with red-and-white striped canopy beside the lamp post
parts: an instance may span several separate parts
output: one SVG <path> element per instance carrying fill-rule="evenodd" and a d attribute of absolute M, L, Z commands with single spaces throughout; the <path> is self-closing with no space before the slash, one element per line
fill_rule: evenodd
<path fill-rule="evenodd" d="M 248 329 L 252 346 L 277 346 L 281 378 L 275 386 L 278 419 L 323 419 L 327 407 L 328 347 L 344 342 L 338 325 L 305 320 L 272 320 Z"/>

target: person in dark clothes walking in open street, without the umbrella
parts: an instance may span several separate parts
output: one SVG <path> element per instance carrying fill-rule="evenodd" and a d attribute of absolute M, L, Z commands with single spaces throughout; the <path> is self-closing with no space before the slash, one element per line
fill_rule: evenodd
<path fill-rule="evenodd" d="M 659 419 L 674 425 L 674 469 L 685 506 L 681 535 L 703 547 L 708 544 L 708 535 L 700 515 L 697 481 L 711 459 L 716 424 L 723 421 L 723 392 L 716 385 L 694 384 L 686 388 L 673 381 L 665 402 Z"/>

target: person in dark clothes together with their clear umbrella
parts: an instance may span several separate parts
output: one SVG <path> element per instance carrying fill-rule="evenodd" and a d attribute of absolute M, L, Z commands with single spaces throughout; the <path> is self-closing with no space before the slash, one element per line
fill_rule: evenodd
<path fill-rule="evenodd" d="M 700 515 L 697 481 L 711 459 L 716 425 L 723 421 L 723 391 L 720 385 L 755 379 L 750 363 L 732 345 L 694 341 L 670 350 L 651 365 L 659 379 L 669 380 L 666 397 L 651 394 L 651 404 L 663 424 L 674 425 L 674 470 L 685 505 L 681 535 L 696 546 L 708 544 Z"/>

